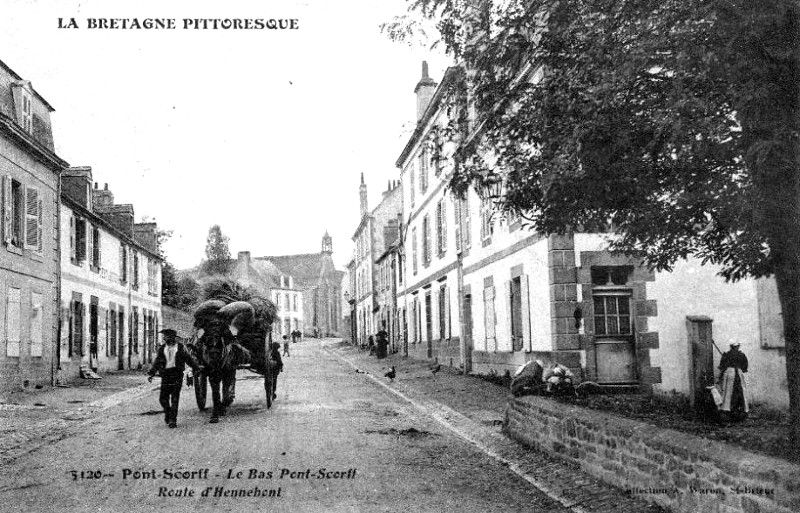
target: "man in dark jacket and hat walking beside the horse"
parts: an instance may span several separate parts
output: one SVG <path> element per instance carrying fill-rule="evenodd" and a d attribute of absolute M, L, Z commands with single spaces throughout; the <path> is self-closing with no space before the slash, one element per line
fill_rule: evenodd
<path fill-rule="evenodd" d="M 181 385 L 183 385 L 183 371 L 188 364 L 192 369 L 197 370 L 200 365 L 186 349 L 186 346 L 178 342 L 178 334 L 175 330 L 164 329 L 160 332 L 164 337 L 164 344 L 158 348 L 158 355 L 153 367 L 148 373 L 148 381 L 153 381 L 156 373 L 161 373 L 161 395 L 158 401 L 164 408 L 164 421 L 171 428 L 177 427 L 178 422 L 178 403 L 181 397 Z"/>

